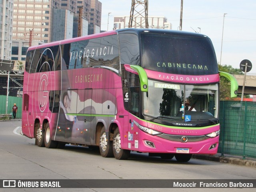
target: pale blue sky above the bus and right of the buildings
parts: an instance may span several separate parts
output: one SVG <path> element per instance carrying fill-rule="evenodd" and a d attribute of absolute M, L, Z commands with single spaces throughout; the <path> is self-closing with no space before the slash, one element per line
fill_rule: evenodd
<path fill-rule="evenodd" d="M 112 30 L 115 16 L 130 16 L 132 0 L 100 2 L 101 30 Z M 164 16 L 172 30 L 178 30 L 180 4 L 181 0 L 148 0 L 148 16 Z M 248 59 L 252 63 L 249 73 L 256 73 L 256 0 L 183 0 L 182 18 L 182 31 L 210 37 L 218 62 L 222 43 L 222 65 L 240 68 L 241 61 Z"/>

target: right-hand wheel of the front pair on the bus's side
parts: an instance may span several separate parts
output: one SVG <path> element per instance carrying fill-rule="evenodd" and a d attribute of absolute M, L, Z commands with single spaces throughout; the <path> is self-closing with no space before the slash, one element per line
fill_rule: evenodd
<path fill-rule="evenodd" d="M 121 136 L 120 136 L 118 127 L 114 131 L 113 152 L 114 152 L 115 158 L 118 160 L 127 159 L 131 152 L 130 150 L 121 148 Z"/>

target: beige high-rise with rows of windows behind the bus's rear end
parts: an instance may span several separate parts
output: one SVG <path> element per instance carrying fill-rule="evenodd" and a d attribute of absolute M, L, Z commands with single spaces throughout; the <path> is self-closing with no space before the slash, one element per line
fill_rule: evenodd
<path fill-rule="evenodd" d="M 60 0 L 14 0 L 13 40 L 51 40 L 52 12 L 60 9 Z"/>

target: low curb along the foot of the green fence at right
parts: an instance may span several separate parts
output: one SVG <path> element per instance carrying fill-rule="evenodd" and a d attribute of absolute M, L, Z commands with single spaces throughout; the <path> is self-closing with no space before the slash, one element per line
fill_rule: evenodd
<path fill-rule="evenodd" d="M 216 162 L 224 162 L 228 164 L 236 164 L 236 165 L 242 165 L 242 166 L 248 166 L 248 167 L 254 167 L 256 168 L 256 161 L 254 160 L 247 160 L 247 159 L 240 159 L 240 158 L 234 158 L 234 157 L 226 157 L 226 156 L 214 156 L 214 155 L 202 155 L 202 154 L 194 154 L 192 155 L 192 158 L 196 159 L 202 159 L 202 160 L 211 160 Z"/>

